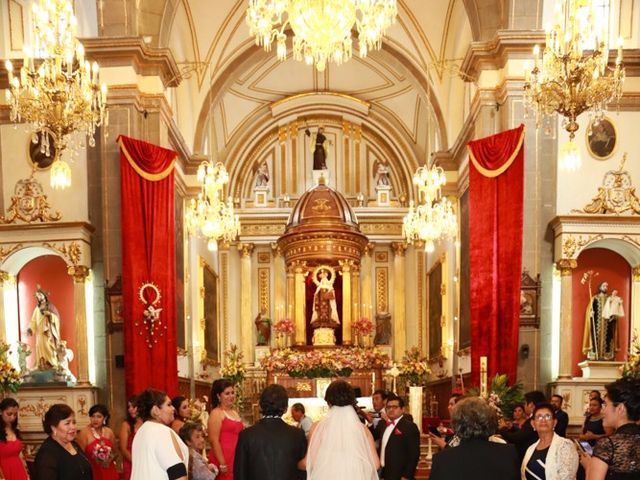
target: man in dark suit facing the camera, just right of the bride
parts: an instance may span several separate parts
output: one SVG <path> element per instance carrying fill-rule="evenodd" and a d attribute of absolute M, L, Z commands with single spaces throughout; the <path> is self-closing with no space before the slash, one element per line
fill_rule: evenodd
<path fill-rule="evenodd" d="M 388 422 L 378 423 L 380 464 L 384 480 L 415 478 L 420 458 L 420 432 L 404 415 L 404 400 L 395 395 L 387 398 Z"/>

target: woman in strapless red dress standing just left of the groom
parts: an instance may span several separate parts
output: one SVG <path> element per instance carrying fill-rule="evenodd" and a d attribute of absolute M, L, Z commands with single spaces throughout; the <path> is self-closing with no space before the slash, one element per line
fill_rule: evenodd
<path fill-rule="evenodd" d="M 208 433 L 211 450 L 209 461 L 220 470 L 219 480 L 233 480 L 233 460 L 238 435 L 244 428 L 240 415 L 233 409 L 236 399 L 233 383 L 220 378 L 211 386 L 213 410 L 209 414 Z"/>

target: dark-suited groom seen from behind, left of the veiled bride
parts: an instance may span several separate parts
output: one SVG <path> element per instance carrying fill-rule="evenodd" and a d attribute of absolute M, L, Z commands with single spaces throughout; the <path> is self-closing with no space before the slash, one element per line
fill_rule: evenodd
<path fill-rule="evenodd" d="M 238 437 L 233 476 L 236 480 L 297 480 L 298 461 L 307 451 L 304 431 L 287 425 L 282 415 L 289 398 L 282 385 L 269 385 L 260 395 L 262 418 Z"/>

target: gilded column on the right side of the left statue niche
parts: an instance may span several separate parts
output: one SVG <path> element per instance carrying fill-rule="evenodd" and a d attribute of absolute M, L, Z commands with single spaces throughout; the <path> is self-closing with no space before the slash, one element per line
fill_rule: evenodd
<path fill-rule="evenodd" d="M 73 277 L 73 312 L 76 324 L 76 365 L 78 367 L 78 385 L 89 385 L 89 352 L 87 341 L 87 297 L 85 283 L 89 267 L 74 265 L 67 269 Z"/>

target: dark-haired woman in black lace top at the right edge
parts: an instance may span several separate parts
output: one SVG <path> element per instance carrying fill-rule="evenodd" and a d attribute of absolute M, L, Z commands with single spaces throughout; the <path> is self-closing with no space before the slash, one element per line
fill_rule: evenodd
<path fill-rule="evenodd" d="M 640 379 L 622 377 L 605 386 L 604 426 L 615 429 L 601 438 L 593 456 L 581 455 L 587 480 L 640 478 Z"/>

